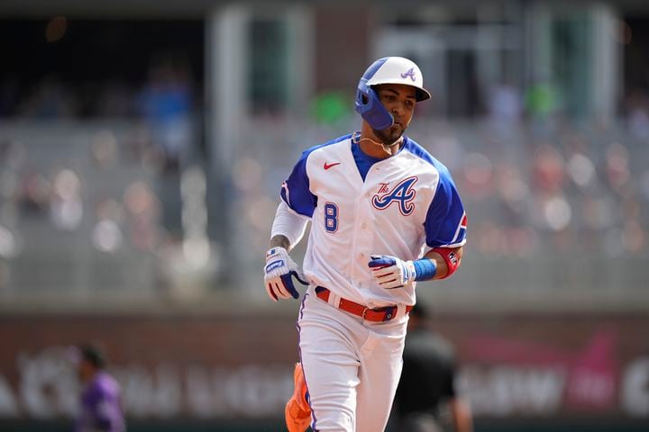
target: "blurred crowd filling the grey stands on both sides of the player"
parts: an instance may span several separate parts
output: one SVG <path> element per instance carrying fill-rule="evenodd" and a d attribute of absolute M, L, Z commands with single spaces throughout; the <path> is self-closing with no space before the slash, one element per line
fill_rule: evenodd
<path fill-rule="evenodd" d="M 137 96 L 140 115 L 127 121 L 104 121 L 96 130 L 83 123 L 58 131 L 32 128 L 27 134 L 5 129 L 0 136 L 0 287 L 30 272 L 16 260 L 44 259 L 43 250 L 56 255 L 66 247 L 71 253 L 80 242 L 91 245 L 88 253 L 129 262 L 144 259 L 140 252 L 153 261 L 176 257 L 169 255 L 169 245 L 176 245 L 184 251 L 181 256 L 198 255 L 206 265 L 210 216 L 205 201 L 215 188 L 230 191 L 224 196 L 236 243 L 221 246 L 238 251 L 242 268 L 256 268 L 279 185 L 299 153 L 359 127 L 353 115 L 326 124 L 261 116 L 233 125 L 239 141 L 231 172 L 210 177 L 205 160 L 197 168 L 187 156 L 193 152 L 193 160 L 201 162 L 196 157 L 200 139 L 188 114 L 189 87 L 179 85 L 183 80 L 177 77 L 156 69 Z M 600 262 L 646 257 L 649 116 L 642 114 L 644 105 L 637 102 L 640 108 L 620 121 L 568 121 L 557 112 L 523 118 L 523 103 L 506 87 L 498 89 L 494 101 L 498 109 L 480 120 L 424 117 L 408 130 L 451 169 L 462 191 L 471 259 L 577 259 L 593 273 Z M 206 178 L 231 183 L 206 184 Z M 47 232 L 69 233 L 74 240 L 68 244 Z M 56 247 L 30 247 L 34 241 Z M 638 272 L 619 284 L 634 284 L 644 277 L 643 269 Z"/>

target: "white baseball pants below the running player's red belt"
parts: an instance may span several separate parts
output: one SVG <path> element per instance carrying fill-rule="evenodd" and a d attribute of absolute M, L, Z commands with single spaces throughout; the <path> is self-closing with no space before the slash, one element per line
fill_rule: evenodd
<path fill-rule="evenodd" d="M 315 296 L 310 286 L 297 329 L 312 428 L 379 432 L 386 428 L 401 368 L 407 316 L 362 320 Z"/>

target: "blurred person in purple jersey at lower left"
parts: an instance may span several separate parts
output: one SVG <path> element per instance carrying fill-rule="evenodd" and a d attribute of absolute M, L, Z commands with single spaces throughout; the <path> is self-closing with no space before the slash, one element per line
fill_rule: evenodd
<path fill-rule="evenodd" d="M 76 347 L 75 353 L 81 393 L 74 431 L 125 431 L 120 385 L 105 370 L 104 353 L 90 344 Z"/>

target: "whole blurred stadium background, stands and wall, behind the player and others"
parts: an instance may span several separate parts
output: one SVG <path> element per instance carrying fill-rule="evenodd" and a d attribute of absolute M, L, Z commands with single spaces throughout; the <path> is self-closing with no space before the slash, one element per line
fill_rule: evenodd
<path fill-rule="evenodd" d="M 69 430 L 62 353 L 100 340 L 129 430 L 282 430 L 279 184 L 384 55 L 422 67 L 409 135 L 468 208 L 418 295 L 476 430 L 648 430 L 644 0 L 2 0 L 0 429 Z"/>

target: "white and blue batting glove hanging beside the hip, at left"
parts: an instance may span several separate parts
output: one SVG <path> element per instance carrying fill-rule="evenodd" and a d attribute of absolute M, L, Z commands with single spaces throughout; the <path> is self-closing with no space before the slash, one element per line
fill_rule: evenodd
<path fill-rule="evenodd" d="M 302 271 L 296 262 L 288 256 L 284 247 L 273 247 L 266 252 L 266 266 L 264 267 L 264 284 L 266 293 L 273 302 L 279 299 L 297 299 L 299 293 L 293 285 L 292 276 L 307 285 Z"/>

